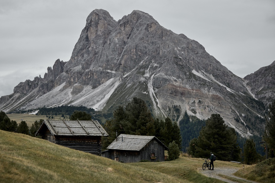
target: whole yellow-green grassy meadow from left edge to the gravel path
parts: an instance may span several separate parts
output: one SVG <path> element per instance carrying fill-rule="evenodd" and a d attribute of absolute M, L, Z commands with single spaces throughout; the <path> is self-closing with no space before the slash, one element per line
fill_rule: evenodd
<path fill-rule="evenodd" d="M 0 130 L 0 182 L 223 182 L 202 175 L 202 163 L 201 158 L 182 156 L 174 161 L 120 163 Z M 218 160 L 215 167 L 242 170 L 240 164 Z"/>

